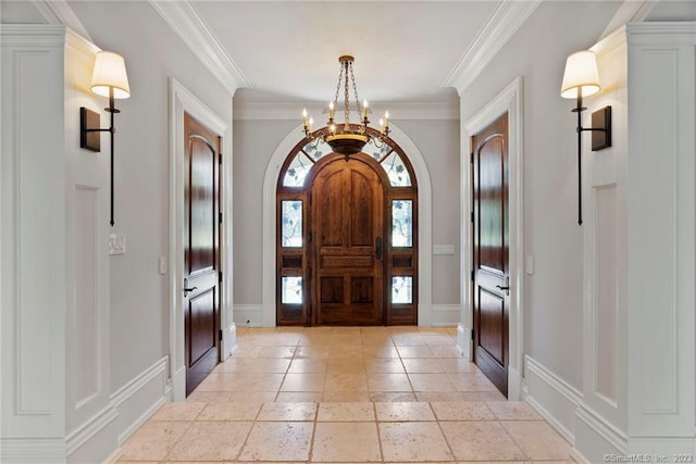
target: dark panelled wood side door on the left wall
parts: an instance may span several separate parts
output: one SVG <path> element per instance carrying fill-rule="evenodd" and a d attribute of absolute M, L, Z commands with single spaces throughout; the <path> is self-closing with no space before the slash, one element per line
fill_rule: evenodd
<path fill-rule="evenodd" d="M 185 244 L 184 305 L 186 394 L 220 361 L 219 155 L 220 137 L 184 117 Z"/>

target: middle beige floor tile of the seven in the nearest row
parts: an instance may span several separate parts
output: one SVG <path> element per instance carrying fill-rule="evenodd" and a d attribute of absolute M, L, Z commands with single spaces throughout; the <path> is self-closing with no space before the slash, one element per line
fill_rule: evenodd
<path fill-rule="evenodd" d="M 373 422 L 320 422 L 314 430 L 312 461 L 382 461 L 377 425 Z"/>

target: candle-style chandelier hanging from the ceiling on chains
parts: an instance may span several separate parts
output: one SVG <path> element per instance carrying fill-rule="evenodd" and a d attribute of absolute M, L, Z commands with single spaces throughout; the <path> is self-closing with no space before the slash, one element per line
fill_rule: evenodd
<path fill-rule="evenodd" d="M 336 153 L 340 153 L 348 159 L 349 155 L 360 153 L 362 148 L 369 141 L 372 141 L 375 146 L 382 147 L 389 136 L 389 112 L 384 114 L 384 118 L 380 120 L 380 135 L 374 136 L 368 130 L 368 114 L 370 112 L 368 106 L 368 100 L 363 100 L 362 108 L 360 106 L 360 98 L 358 97 L 358 86 L 356 86 L 356 76 L 352 72 L 352 62 L 355 58 L 350 55 L 343 55 L 338 58 L 340 63 L 340 73 L 338 74 L 338 84 L 336 85 L 336 95 L 334 100 L 328 103 L 328 123 L 326 127 L 312 131 L 312 125 L 314 120 L 308 116 L 307 109 L 302 111 L 302 122 L 304 125 L 304 136 L 318 145 L 320 141 L 328 143 L 328 146 Z M 357 124 L 350 123 L 350 92 L 349 81 L 352 85 L 355 95 L 355 111 L 362 115 L 362 122 Z M 334 121 L 334 113 L 336 105 L 338 104 L 338 93 L 340 92 L 340 86 L 344 87 L 344 122 L 343 124 L 336 124 Z M 374 131 L 373 131 L 374 133 Z"/>

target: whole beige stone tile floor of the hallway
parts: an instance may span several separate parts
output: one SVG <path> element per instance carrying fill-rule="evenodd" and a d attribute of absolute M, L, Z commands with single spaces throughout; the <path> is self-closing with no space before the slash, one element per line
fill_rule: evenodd
<path fill-rule="evenodd" d="M 529 404 L 461 358 L 453 328 L 243 328 L 119 462 L 572 462 Z"/>

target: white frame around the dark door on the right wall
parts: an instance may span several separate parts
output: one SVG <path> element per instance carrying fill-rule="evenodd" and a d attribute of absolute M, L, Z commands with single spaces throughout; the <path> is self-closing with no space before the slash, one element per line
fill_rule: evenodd
<path fill-rule="evenodd" d="M 473 271 L 473 235 L 471 230 L 471 136 L 493 124 L 506 112 L 508 113 L 508 163 L 510 167 L 509 184 L 509 221 L 510 221 L 510 321 L 508 365 L 508 399 L 519 400 L 522 390 L 522 372 L 524 365 L 524 133 L 523 133 L 523 88 L 522 76 L 518 76 L 473 117 L 462 124 L 461 158 L 461 301 L 462 314 L 458 328 L 458 346 L 468 359 L 473 355 L 473 291 L 471 273 Z"/>

